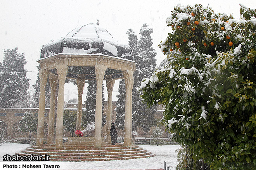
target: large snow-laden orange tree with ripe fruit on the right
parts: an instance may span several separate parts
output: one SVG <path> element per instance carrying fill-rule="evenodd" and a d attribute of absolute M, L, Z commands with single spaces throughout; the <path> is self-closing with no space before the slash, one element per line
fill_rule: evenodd
<path fill-rule="evenodd" d="M 139 88 L 149 106 L 165 107 L 166 129 L 214 170 L 256 168 L 256 10 L 241 5 L 240 14 L 175 7 L 173 31 L 159 44 L 170 64 Z"/>

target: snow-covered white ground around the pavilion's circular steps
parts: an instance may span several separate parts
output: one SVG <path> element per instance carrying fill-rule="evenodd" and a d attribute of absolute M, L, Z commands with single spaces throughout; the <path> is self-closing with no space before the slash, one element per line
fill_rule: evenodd
<path fill-rule="evenodd" d="M 163 169 L 164 161 L 166 161 L 166 166 L 170 167 L 169 170 L 175 170 L 177 164 L 177 152 L 176 149 L 180 148 L 178 145 L 166 145 L 166 146 L 149 146 L 149 145 L 140 145 L 147 150 L 150 150 L 152 153 L 155 153 L 156 156 L 152 158 L 141 158 L 141 159 L 132 159 L 132 160 L 117 160 L 117 161 L 97 161 L 97 162 L 3 162 L 3 156 L 6 154 L 14 155 L 15 152 L 24 150 L 28 147 L 28 144 L 10 144 L 3 143 L 0 146 L 0 167 L 3 168 L 4 164 L 8 165 L 17 165 L 17 169 L 22 169 L 22 165 L 59 165 L 60 168 L 64 170 L 79 170 L 79 169 L 100 169 L 100 170 L 132 170 L 132 169 Z M 20 168 L 19 168 L 20 167 Z M 2 169 L 1 168 L 1 169 Z M 16 169 L 16 168 L 4 168 L 4 169 Z M 24 168 L 25 169 L 25 168 Z M 26 168 L 29 169 L 29 168 Z M 35 168 L 31 168 L 31 170 Z M 37 168 L 40 169 L 40 168 Z M 55 168 L 57 169 L 57 168 Z"/>

